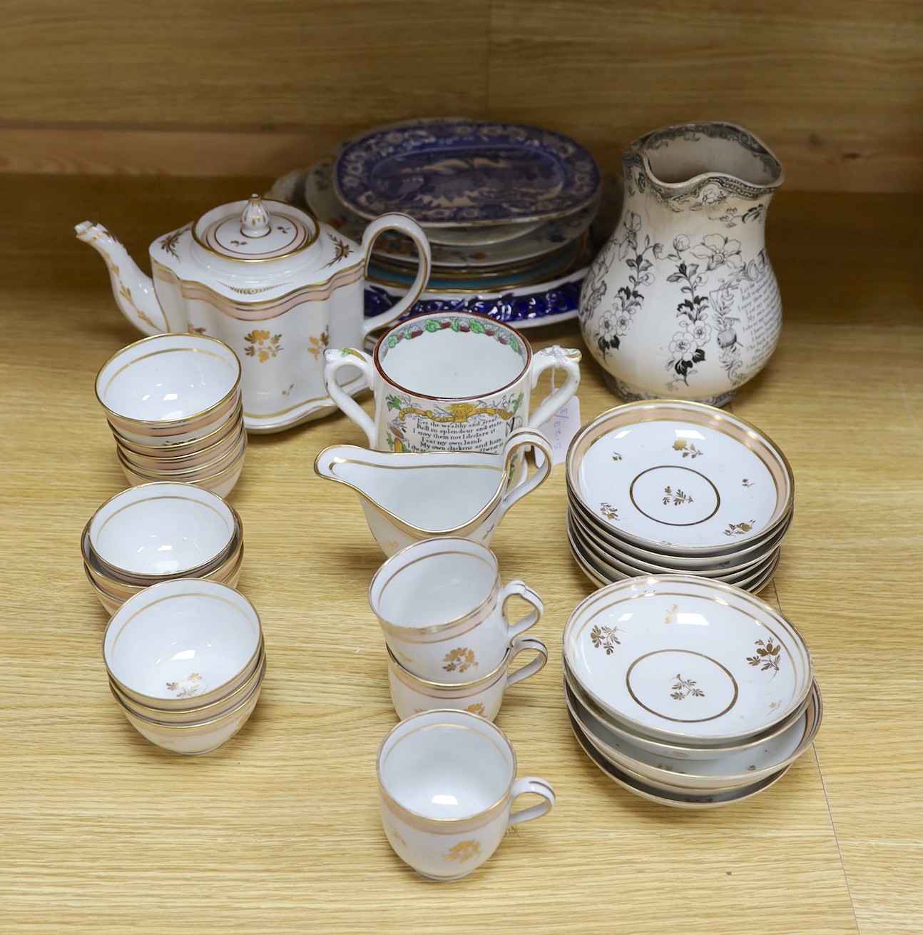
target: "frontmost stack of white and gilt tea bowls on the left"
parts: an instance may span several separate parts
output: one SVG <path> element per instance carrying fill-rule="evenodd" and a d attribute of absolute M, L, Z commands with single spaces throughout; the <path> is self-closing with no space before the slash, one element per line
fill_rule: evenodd
<path fill-rule="evenodd" d="M 256 707 L 266 672 L 260 617 L 226 584 L 154 584 L 113 614 L 109 688 L 135 730 L 182 755 L 216 750 Z"/>

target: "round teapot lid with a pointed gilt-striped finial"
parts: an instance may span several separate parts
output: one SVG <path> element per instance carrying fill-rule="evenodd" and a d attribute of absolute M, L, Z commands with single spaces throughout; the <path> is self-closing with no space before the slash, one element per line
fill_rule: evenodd
<path fill-rule="evenodd" d="M 258 194 L 206 211 L 192 227 L 195 242 L 208 252 L 249 262 L 302 252 L 318 233 L 318 223 L 305 211 L 282 201 L 263 201 Z"/>

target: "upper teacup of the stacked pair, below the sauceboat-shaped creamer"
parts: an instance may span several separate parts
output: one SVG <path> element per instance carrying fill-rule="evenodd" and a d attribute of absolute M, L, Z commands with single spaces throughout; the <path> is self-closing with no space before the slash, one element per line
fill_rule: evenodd
<path fill-rule="evenodd" d="M 514 596 L 533 608 L 515 623 L 506 612 Z M 372 579 L 369 605 L 395 659 L 435 683 L 470 683 L 493 672 L 544 610 L 526 583 L 504 585 L 486 545 L 454 537 L 422 539 L 392 555 Z"/>

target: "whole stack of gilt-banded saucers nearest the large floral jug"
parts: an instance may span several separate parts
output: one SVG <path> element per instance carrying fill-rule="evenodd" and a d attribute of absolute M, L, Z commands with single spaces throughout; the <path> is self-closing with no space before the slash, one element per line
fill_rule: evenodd
<path fill-rule="evenodd" d="M 683 400 L 628 403 L 567 454 L 571 551 L 600 586 L 681 572 L 757 592 L 778 565 L 794 479 L 754 425 Z"/>

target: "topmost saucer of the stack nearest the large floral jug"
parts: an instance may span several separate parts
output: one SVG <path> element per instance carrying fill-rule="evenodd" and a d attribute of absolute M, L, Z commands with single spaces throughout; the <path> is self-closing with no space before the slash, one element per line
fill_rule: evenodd
<path fill-rule="evenodd" d="M 768 538 L 794 491 L 788 461 L 755 426 L 681 400 L 604 412 L 571 442 L 566 477 L 601 528 L 661 555 L 717 555 Z"/>

